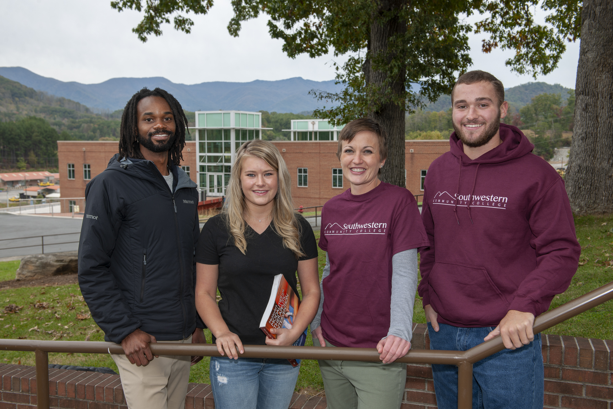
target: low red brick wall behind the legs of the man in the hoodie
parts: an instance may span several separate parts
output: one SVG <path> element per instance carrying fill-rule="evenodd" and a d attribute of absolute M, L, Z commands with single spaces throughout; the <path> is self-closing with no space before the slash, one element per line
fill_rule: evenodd
<path fill-rule="evenodd" d="M 613 341 L 543 335 L 546 408 L 613 409 Z M 413 349 L 430 349 L 425 324 L 415 324 Z M 403 409 L 436 407 L 432 368 L 409 364 Z"/>

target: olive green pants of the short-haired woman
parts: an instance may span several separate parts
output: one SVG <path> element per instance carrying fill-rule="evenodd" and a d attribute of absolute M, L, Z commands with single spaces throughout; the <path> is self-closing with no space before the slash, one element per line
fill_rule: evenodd
<path fill-rule="evenodd" d="M 321 346 L 313 337 L 313 345 Z M 326 347 L 335 348 L 326 341 Z M 398 409 L 405 395 L 406 364 L 319 360 L 328 409 Z"/>

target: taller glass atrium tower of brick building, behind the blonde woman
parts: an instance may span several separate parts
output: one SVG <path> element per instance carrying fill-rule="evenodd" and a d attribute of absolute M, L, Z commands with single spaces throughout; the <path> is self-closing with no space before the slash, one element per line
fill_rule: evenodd
<path fill-rule="evenodd" d="M 196 111 L 196 157 L 200 200 L 225 196 L 236 152 L 246 141 L 262 139 L 261 112 Z"/>

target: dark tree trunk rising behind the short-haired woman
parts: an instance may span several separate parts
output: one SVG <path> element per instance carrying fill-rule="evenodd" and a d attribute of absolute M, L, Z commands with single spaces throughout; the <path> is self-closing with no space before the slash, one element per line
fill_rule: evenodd
<path fill-rule="evenodd" d="M 402 0 L 383 0 L 379 6 L 379 15 L 398 10 L 403 7 Z M 370 41 L 368 48 L 373 58 L 384 56 L 387 61 L 402 56 L 390 54 L 388 44 L 390 37 L 402 36 L 406 31 L 405 21 L 400 20 L 398 12 L 395 17 L 379 24 L 378 16 L 374 16 L 370 26 Z M 391 92 L 393 96 L 405 95 L 406 71 L 402 69 L 393 79 L 388 79 L 387 74 L 375 71 L 373 63 L 366 61 L 364 66 L 367 84 L 370 82 L 381 90 L 381 94 Z M 391 80 L 391 81 L 390 81 Z M 387 161 L 381 169 L 381 180 L 393 185 L 405 187 L 405 103 L 386 101 L 375 109 L 368 110 L 368 117 L 376 120 L 387 133 Z"/>

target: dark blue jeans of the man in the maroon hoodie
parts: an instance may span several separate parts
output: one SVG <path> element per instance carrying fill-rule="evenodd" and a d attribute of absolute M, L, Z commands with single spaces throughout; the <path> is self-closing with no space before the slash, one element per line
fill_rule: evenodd
<path fill-rule="evenodd" d="M 430 349 L 466 351 L 483 342 L 492 327 L 459 328 L 428 322 Z M 432 365 L 436 403 L 440 409 L 457 408 L 458 368 Z M 544 389 L 541 334 L 517 348 L 503 349 L 473 365 L 473 409 L 542 409 Z"/>

